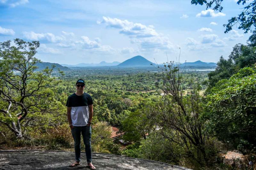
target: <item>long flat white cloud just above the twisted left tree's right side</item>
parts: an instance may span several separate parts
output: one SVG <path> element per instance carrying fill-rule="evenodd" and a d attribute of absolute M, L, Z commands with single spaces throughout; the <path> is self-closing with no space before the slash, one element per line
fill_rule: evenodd
<path fill-rule="evenodd" d="M 35 33 L 33 31 L 31 32 L 22 32 L 23 37 L 29 40 L 35 40 L 35 41 L 46 41 L 51 43 L 57 43 L 62 40 L 65 40 L 64 36 L 55 36 L 52 33 Z"/>

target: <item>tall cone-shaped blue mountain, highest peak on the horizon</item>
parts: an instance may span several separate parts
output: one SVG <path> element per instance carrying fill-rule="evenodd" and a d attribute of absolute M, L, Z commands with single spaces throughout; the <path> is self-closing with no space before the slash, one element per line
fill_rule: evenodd
<path fill-rule="evenodd" d="M 144 57 L 137 55 L 132 57 L 124 62 L 118 64 L 118 67 L 150 67 L 151 65 L 155 65 L 154 63 L 148 61 Z"/>

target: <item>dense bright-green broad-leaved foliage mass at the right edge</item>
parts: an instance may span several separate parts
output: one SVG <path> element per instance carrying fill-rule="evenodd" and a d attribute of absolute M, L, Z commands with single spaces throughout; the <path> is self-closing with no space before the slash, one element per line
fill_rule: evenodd
<path fill-rule="evenodd" d="M 243 153 L 256 152 L 256 69 L 245 67 L 207 95 L 207 130 Z"/>

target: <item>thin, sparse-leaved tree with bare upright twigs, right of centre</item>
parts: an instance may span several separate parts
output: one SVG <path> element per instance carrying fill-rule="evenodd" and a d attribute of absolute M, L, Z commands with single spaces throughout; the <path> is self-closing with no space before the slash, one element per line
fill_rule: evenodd
<path fill-rule="evenodd" d="M 207 157 L 204 122 L 199 118 L 203 111 L 200 82 L 193 75 L 185 77 L 180 64 L 174 62 L 165 63 L 159 69 L 156 87 L 164 92 L 165 98 L 159 103 L 161 109 L 151 114 L 158 133 L 170 142 L 185 147 L 188 152 L 196 150 L 196 155 L 191 156 L 203 165 Z"/>

